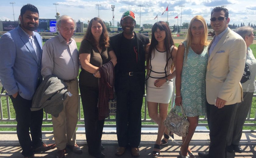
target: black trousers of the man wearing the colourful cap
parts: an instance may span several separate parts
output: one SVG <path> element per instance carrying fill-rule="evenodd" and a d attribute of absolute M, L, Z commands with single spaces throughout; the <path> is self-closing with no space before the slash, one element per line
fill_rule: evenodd
<path fill-rule="evenodd" d="M 121 147 L 139 147 L 143 87 L 137 76 L 119 77 L 116 95 L 116 133 Z"/>

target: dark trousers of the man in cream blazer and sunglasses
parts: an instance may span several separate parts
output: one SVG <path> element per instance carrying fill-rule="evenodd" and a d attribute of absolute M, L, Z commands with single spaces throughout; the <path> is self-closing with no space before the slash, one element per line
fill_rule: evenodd
<path fill-rule="evenodd" d="M 227 135 L 233 113 L 233 107 L 236 104 L 225 105 L 223 108 L 217 108 L 207 102 L 207 122 L 210 129 L 210 158 L 225 158 Z"/>

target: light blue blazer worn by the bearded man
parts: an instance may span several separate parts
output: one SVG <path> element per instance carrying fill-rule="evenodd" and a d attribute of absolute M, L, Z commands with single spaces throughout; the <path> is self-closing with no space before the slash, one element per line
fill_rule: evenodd
<path fill-rule="evenodd" d="M 41 36 L 34 32 L 40 47 L 40 59 L 27 35 L 20 26 L 0 38 L 0 80 L 9 95 L 19 92 L 20 96 L 32 100 L 41 83 Z"/>

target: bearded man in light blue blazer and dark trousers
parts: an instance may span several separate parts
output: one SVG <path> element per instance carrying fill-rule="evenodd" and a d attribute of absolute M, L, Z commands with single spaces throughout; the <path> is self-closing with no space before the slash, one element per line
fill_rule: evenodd
<path fill-rule="evenodd" d="M 16 113 L 22 155 L 34 157 L 34 152 L 47 151 L 55 144 L 42 142 L 43 109 L 30 111 L 33 95 L 42 81 L 42 39 L 34 32 L 39 24 L 37 8 L 24 5 L 19 19 L 21 24 L 0 38 L 0 80 Z"/>

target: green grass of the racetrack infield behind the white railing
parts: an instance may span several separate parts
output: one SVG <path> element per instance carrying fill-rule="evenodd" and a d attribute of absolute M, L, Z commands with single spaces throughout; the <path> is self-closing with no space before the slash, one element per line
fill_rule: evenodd
<path fill-rule="evenodd" d="M 176 43 L 175 45 L 178 46 L 179 44 Z M 77 47 L 79 49 L 80 43 L 77 43 Z M 250 48 L 253 51 L 254 57 L 256 57 L 256 44 L 252 44 L 250 46 Z M 241 53 L 243 53 L 243 52 L 241 52 Z M 0 91 L 1 90 L 2 90 L 2 88 L 0 88 Z M 2 97 L 1 101 L 2 101 L 3 118 L 8 118 L 6 98 Z M 15 112 L 14 112 L 14 108 L 12 106 L 12 101 L 11 101 L 10 98 L 9 98 L 9 104 L 10 104 L 10 106 L 9 106 L 9 108 L 10 108 L 10 116 L 11 116 L 11 118 L 15 118 Z M 142 111 L 141 111 L 142 118 L 144 118 L 144 109 L 145 109 L 144 107 L 145 107 L 145 99 L 143 99 L 143 105 L 142 105 Z M 170 111 L 170 107 L 171 106 L 169 106 L 169 111 Z M 82 103 L 80 103 L 80 109 L 81 109 L 81 117 L 84 118 Z M 250 118 L 254 118 L 254 116 L 255 116 L 255 109 L 256 109 L 256 98 L 253 98 Z M 51 118 L 50 115 L 48 115 L 48 117 Z M 201 116 L 201 117 L 203 117 L 203 116 Z M 44 118 L 46 118 L 45 117 L 45 113 L 44 113 Z M 114 119 L 115 116 L 111 116 L 111 118 Z M 148 111 L 146 112 L 146 119 L 150 119 L 149 116 L 148 116 Z M 43 122 L 43 124 L 51 124 L 51 123 L 52 122 Z M 200 123 L 207 123 L 207 122 L 200 122 Z M 248 123 L 248 122 L 246 122 L 246 123 Z M 0 122 L 0 124 L 1 125 L 4 125 L 4 124 L 16 124 L 16 122 Z M 84 124 L 84 122 L 78 122 L 77 124 Z M 105 124 L 116 124 L 116 122 L 105 122 Z M 142 122 L 142 124 L 148 124 L 149 125 L 149 124 L 155 124 L 155 123 L 154 122 Z M 255 126 L 248 126 L 248 127 L 244 127 L 243 129 L 255 130 L 256 127 Z M 0 128 L 0 131 L 15 131 L 15 130 L 16 130 L 16 128 Z M 43 128 L 42 130 L 43 131 L 52 131 L 53 129 L 52 128 Z"/>

